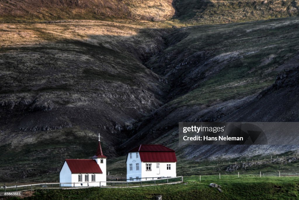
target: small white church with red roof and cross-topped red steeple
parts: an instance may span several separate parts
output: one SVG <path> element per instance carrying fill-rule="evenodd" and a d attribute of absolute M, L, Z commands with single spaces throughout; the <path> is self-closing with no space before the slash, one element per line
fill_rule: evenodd
<path fill-rule="evenodd" d="M 97 154 L 92 159 L 65 159 L 60 170 L 61 187 L 106 186 L 106 159 L 99 135 Z"/>

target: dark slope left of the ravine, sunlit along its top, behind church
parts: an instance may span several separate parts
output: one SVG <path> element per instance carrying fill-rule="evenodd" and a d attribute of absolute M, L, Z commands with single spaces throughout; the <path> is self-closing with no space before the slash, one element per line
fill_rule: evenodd
<path fill-rule="evenodd" d="M 115 147 L 168 89 L 141 60 L 173 29 L 147 25 L 0 24 L 1 180 L 57 173 L 65 158 L 89 158 L 97 133 L 104 154 L 118 155 Z"/>

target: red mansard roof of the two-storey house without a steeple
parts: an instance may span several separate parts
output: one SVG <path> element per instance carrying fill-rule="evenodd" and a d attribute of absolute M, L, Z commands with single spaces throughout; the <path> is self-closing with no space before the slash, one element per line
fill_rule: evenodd
<path fill-rule="evenodd" d="M 175 151 L 163 145 L 139 145 L 130 152 L 139 152 L 141 162 L 177 162 Z"/>

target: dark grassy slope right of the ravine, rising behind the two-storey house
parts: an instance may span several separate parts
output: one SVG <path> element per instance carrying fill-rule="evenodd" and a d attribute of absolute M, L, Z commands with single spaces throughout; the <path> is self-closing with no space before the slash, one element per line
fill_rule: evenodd
<path fill-rule="evenodd" d="M 271 90 L 273 96 L 269 97 L 272 98 L 269 104 L 266 100 L 257 106 L 254 103 L 255 97 L 275 82 L 279 71 L 298 66 L 298 25 L 298 18 L 291 18 L 196 26 L 171 33 L 167 40 L 170 46 L 146 63 L 170 84 L 171 92 L 166 97 L 169 102 L 138 125 L 135 135 L 123 144 L 123 148 L 129 148 L 135 141 L 158 142 L 179 149 L 182 156 L 195 159 L 297 149 L 271 146 L 258 149 L 251 146 L 179 147 L 177 134 L 180 121 L 271 121 L 277 116 L 274 113 L 284 108 L 293 115 L 282 116 L 284 120 L 277 117 L 276 120 L 298 120 L 295 94 L 290 94 L 292 100 L 286 101 L 287 105 L 279 105 L 283 108 L 276 108 L 274 104 L 276 99 L 283 100 L 288 87 L 282 89 L 285 93 Z M 269 111 L 263 110 L 263 104 L 267 104 Z M 266 118 L 267 114 L 269 118 Z"/>

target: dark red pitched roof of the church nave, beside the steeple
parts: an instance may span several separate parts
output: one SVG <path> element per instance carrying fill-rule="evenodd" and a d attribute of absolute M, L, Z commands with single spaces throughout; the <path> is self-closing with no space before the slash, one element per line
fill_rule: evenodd
<path fill-rule="evenodd" d="M 93 159 L 65 159 L 71 173 L 103 173 Z"/>

